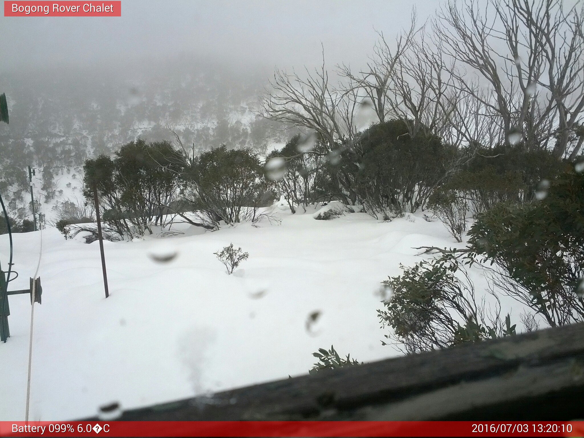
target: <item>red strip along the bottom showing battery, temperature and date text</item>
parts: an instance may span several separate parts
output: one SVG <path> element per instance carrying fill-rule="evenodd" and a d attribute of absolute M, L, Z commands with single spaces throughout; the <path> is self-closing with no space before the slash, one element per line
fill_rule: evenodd
<path fill-rule="evenodd" d="M 3 421 L 0 436 L 584 436 L 584 421 Z"/>

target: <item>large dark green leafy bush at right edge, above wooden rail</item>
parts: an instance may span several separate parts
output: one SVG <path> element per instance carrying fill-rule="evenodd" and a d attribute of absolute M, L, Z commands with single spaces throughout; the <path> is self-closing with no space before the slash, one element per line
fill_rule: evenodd
<path fill-rule="evenodd" d="M 584 175 L 562 173 L 543 200 L 498 204 L 469 234 L 474 256 L 496 263 L 497 286 L 550 326 L 584 319 L 584 297 L 576 293 L 584 277 Z"/>

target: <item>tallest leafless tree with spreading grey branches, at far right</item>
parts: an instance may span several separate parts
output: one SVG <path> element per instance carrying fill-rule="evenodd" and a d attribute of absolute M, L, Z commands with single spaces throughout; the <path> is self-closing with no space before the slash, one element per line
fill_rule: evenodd
<path fill-rule="evenodd" d="M 456 88 L 488 109 L 506 142 L 562 157 L 584 110 L 582 6 L 561 0 L 451 1 L 433 22 Z M 475 78 L 475 79 L 474 79 Z"/>

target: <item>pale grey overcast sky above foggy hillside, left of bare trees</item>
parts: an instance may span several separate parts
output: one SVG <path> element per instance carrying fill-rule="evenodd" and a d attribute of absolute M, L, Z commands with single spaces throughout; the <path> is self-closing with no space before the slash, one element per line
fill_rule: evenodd
<path fill-rule="evenodd" d="M 107 66 L 128 58 L 202 55 L 236 64 L 363 62 L 375 30 L 395 36 L 433 0 L 123 0 L 121 18 L 0 17 L 0 71 Z"/>

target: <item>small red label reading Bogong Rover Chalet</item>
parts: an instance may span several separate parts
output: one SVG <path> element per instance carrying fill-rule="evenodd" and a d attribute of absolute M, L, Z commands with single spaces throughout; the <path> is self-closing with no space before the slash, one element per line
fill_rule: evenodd
<path fill-rule="evenodd" d="M 121 1 L 4 1 L 5 17 L 121 17 Z"/>

